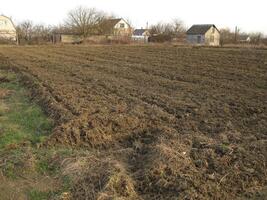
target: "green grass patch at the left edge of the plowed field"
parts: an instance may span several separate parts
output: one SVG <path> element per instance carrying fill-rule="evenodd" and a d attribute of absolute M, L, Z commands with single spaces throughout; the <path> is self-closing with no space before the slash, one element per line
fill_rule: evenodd
<path fill-rule="evenodd" d="M 43 142 L 52 130 L 52 120 L 30 102 L 28 92 L 19 85 L 16 76 L 8 73 L 5 79 L 9 82 L 0 82 L 0 88 L 12 93 L 0 102 L 0 148 L 25 141 L 33 145 Z"/>

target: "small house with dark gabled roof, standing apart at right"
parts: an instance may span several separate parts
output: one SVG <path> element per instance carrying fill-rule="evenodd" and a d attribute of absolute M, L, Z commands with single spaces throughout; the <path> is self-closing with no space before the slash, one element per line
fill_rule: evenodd
<path fill-rule="evenodd" d="M 214 24 L 193 25 L 186 32 L 186 38 L 193 45 L 220 45 L 220 31 Z"/>

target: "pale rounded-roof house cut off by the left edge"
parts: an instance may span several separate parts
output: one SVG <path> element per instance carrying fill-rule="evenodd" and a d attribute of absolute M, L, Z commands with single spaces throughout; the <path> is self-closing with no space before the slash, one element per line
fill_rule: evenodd
<path fill-rule="evenodd" d="M 17 31 L 14 23 L 9 17 L 0 15 L 0 40 L 17 40 Z"/>

